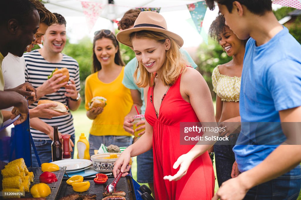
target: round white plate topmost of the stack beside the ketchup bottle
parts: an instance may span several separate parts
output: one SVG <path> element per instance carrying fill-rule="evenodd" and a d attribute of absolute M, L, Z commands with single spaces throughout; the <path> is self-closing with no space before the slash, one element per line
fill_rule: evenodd
<path fill-rule="evenodd" d="M 59 167 L 67 167 L 66 171 L 79 170 L 92 165 L 92 161 L 87 159 L 66 159 L 54 161 L 51 163 L 56 164 Z"/>

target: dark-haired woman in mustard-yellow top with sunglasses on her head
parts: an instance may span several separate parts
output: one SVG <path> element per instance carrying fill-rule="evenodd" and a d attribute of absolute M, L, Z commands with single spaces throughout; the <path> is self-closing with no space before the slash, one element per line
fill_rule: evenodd
<path fill-rule="evenodd" d="M 123 129 L 123 120 L 133 105 L 131 92 L 122 84 L 124 63 L 119 44 L 110 30 L 95 32 L 93 40 L 93 70 L 85 81 L 85 108 L 93 120 L 90 129 L 90 155 L 101 143 L 119 147 L 132 144 L 131 134 Z M 89 108 L 93 97 L 107 99 L 106 106 Z"/>

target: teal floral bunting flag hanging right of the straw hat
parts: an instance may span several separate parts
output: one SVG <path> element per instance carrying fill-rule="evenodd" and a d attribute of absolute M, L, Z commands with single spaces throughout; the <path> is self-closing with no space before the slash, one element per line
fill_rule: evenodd
<path fill-rule="evenodd" d="M 208 34 L 205 31 L 205 29 L 202 29 L 203 20 L 204 20 L 205 13 L 206 13 L 206 10 L 207 10 L 206 2 L 201 1 L 201 2 L 196 2 L 196 3 L 193 3 L 193 4 L 188 4 L 187 8 L 190 12 L 190 15 L 191 15 L 191 18 L 194 22 L 194 25 L 197 28 L 197 31 L 202 36 L 204 42 L 206 42 L 206 44 L 208 44 Z"/>

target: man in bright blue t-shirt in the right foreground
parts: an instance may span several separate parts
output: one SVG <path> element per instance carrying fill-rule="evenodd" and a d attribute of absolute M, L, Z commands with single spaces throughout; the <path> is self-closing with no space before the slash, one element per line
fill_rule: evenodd
<path fill-rule="evenodd" d="M 237 37 L 251 38 L 241 76 L 234 178 L 213 199 L 296 199 L 301 145 L 282 144 L 300 143 L 300 123 L 287 122 L 301 122 L 301 46 L 278 23 L 271 0 L 206 0 L 211 10 L 215 1 Z"/>

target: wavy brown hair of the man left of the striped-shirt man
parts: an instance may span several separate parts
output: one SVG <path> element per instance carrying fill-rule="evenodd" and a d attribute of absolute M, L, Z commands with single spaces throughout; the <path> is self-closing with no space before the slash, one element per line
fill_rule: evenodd
<path fill-rule="evenodd" d="M 36 7 L 39 16 L 40 16 L 40 23 L 45 23 L 47 26 L 50 26 L 52 24 L 57 24 L 57 18 L 54 14 L 52 14 L 50 11 L 48 11 L 44 4 L 42 4 L 39 0 L 29 0 L 33 3 L 33 5 Z"/>

